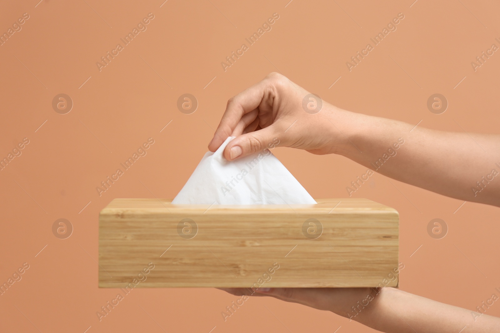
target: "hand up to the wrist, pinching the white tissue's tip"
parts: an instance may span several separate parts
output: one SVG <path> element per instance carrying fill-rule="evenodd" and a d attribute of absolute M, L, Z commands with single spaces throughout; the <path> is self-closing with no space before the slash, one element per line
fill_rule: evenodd
<path fill-rule="evenodd" d="M 263 150 L 274 138 L 279 139 L 277 146 L 314 154 L 334 152 L 335 141 L 341 137 L 329 118 L 341 110 L 312 95 L 308 96 L 312 99 L 306 98 L 303 108 L 302 101 L 308 94 L 285 76 L 270 73 L 229 99 L 208 149 L 215 151 L 228 136 L 236 136 L 224 149 L 227 160 Z M 307 108 L 307 103 L 311 108 L 315 103 L 316 109 Z"/>

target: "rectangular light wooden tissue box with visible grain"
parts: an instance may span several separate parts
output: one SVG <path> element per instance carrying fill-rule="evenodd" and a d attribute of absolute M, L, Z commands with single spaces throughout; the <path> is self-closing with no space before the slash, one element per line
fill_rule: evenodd
<path fill-rule="evenodd" d="M 396 287 L 397 211 L 366 199 L 316 202 L 114 199 L 99 214 L 99 287 Z"/>

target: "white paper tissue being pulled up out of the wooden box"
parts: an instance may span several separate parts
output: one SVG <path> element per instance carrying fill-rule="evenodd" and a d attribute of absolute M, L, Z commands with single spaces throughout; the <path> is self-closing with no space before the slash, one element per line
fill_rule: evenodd
<path fill-rule="evenodd" d="M 203 156 L 172 204 L 316 203 L 269 149 L 227 161 L 223 151 L 234 138 L 228 137 L 214 153 L 207 152 Z"/>

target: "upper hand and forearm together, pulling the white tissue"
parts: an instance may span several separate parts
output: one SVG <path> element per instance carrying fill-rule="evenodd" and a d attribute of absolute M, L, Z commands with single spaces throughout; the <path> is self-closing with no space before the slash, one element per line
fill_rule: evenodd
<path fill-rule="evenodd" d="M 316 109 L 307 107 L 314 103 Z M 270 145 L 341 154 L 395 180 L 500 207 L 500 181 L 496 180 L 500 135 L 443 132 L 349 112 L 310 95 L 278 73 L 229 99 L 208 149 L 215 151 L 228 136 L 236 138 L 224 149 L 227 160 Z"/>

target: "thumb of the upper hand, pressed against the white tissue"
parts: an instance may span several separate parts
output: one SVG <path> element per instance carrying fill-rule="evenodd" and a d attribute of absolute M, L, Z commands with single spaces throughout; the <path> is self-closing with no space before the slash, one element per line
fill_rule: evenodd
<path fill-rule="evenodd" d="M 277 137 L 277 133 L 275 125 L 272 124 L 258 131 L 239 135 L 229 141 L 224 149 L 224 157 L 226 160 L 231 161 L 266 148 L 283 145 L 283 142 L 280 142 L 280 139 Z"/>

